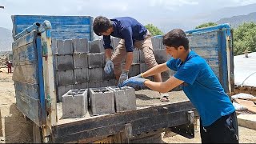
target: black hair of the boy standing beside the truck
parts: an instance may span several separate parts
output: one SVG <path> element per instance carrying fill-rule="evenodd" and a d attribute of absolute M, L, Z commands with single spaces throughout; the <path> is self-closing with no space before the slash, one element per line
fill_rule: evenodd
<path fill-rule="evenodd" d="M 163 35 L 162 43 L 165 46 L 174 47 L 178 49 L 178 46 L 184 46 L 185 50 L 189 50 L 189 39 L 186 37 L 186 33 L 181 29 L 170 30 L 167 34 Z"/>

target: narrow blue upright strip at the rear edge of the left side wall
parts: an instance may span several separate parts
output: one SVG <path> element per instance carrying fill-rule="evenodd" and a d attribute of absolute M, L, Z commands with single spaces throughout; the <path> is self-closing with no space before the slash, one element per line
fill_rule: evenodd
<path fill-rule="evenodd" d="M 41 37 L 36 38 L 36 44 L 38 49 L 38 80 L 39 80 L 39 96 L 40 105 L 42 110 L 42 125 L 46 124 L 46 100 L 45 100 L 45 89 L 44 89 L 44 79 L 43 79 L 43 68 L 42 68 L 42 44 Z"/>

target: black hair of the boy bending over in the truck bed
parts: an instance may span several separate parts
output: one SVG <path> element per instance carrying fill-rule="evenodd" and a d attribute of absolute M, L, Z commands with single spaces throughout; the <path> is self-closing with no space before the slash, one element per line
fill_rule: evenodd
<path fill-rule="evenodd" d="M 111 26 L 112 22 L 106 17 L 98 16 L 94 19 L 93 29 L 98 36 L 101 36 L 101 33 L 106 32 Z"/>

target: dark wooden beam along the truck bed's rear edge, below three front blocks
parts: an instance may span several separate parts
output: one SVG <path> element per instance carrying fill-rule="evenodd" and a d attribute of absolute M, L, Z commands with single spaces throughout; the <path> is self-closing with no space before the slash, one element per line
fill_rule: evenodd
<path fill-rule="evenodd" d="M 166 119 L 169 118 L 169 119 Z M 55 142 L 72 142 L 75 139 L 93 138 L 95 135 L 107 136 L 112 134 L 118 134 L 125 128 L 126 122 L 132 125 L 132 134 L 142 134 L 144 132 L 150 132 L 153 130 L 159 130 L 172 126 L 179 126 L 189 123 L 187 119 L 187 111 L 177 111 L 175 113 L 168 114 L 155 114 L 148 117 L 142 117 L 126 122 L 119 122 L 118 117 L 115 122 L 110 125 L 102 125 L 101 127 L 95 127 L 91 130 L 84 130 L 73 134 L 62 134 L 61 137 L 54 138 Z M 71 129 L 72 130 L 72 129 Z"/>

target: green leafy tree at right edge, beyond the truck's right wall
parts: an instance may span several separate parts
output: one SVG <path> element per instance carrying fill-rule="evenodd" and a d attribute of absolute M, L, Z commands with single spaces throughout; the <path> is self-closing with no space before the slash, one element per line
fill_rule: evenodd
<path fill-rule="evenodd" d="M 234 55 L 256 51 L 256 23 L 245 22 L 234 30 Z"/>

